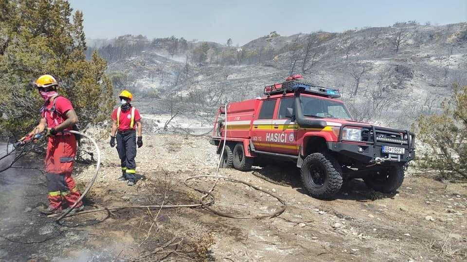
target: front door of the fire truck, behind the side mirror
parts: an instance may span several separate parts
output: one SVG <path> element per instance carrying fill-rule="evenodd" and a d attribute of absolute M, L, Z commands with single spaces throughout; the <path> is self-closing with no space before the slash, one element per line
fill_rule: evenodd
<path fill-rule="evenodd" d="M 272 134 L 269 138 L 269 146 L 275 153 L 297 155 L 298 147 L 296 143 L 298 125 L 287 117 L 287 108 L 292 108 L 293 97 L 281 98 L 279 110 L 276 117 L 272 119 Z"/>

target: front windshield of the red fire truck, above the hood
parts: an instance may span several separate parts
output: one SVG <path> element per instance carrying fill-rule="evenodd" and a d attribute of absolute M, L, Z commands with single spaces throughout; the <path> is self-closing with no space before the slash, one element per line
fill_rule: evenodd
<path fill-rule="evenodd" d="M 301 96 L 303 115 L 352 120 L 343 104 L 325 99 Z"/>

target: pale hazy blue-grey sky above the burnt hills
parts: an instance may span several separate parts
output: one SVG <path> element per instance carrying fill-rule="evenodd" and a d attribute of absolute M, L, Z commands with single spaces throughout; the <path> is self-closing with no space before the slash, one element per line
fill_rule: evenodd
<path fill-rule="evenodd" d="M 467 0 L 70 0 L 84 12 L 88 38 L 175 35 L 234 45 L 281 35 L 341 32 L 397 21 L 467 21 Z"/>

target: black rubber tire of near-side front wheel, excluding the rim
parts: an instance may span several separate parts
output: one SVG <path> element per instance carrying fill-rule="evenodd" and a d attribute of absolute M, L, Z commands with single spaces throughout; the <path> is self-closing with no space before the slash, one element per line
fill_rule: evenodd
<path fill-rule="evenodd" d="M 308 162 L 312 160 L 317 160 L 324 164 L 324 168 L 327 171 L 328 183 L 326 187 L 323 188 L 311 188 L 307 186 L 306 180 L 308 179 Z M 305 167 L 305 168 L 304 168 Z M 343 179 L 342 171 L 339 162 L 337 162 L 334 157 L 327 153 L 313 153 L 309 154 L 303 161 L 302 168 L 300 169 L 300 176 L 302 178 L 302 183 L 305 186 L 306 190 L 310 193 L 312 197 L 316 198 L 332 198 L 341 190 Z M 324 186 L 324 185 L 323 185 Z"/>

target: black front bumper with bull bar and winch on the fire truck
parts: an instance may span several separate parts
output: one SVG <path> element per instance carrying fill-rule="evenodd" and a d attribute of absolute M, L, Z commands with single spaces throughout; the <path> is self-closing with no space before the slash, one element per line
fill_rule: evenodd
<path fill-rule="evenodd" d="M 362 141 L 358 142 L 343 140 L 342 129 L 344 127 L 359 127 L 366 135 L 362 136 Z M 393 138 L 397 135 L 400 137 Z M 375 126 L 342 125 L 339 142 L 327 142 L 327 147 L 332 152 L 345 155 L 363 164 L 405 164 L 415 158 L 414 140 L 415 135 L 409 131 Z M 383 147 L 388 147 L 385 152 L 383 152 Z M 398 152 L 387 152 L 392 150 Z"/>

